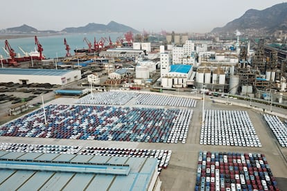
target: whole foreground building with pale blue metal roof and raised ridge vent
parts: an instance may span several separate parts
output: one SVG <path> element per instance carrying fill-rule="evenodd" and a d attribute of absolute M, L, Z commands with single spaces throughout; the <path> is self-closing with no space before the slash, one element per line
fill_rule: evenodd
<path fill-rule="evenodd" d="M 156 158 L 0 152 L 0 190 L 159 190 Z"/>

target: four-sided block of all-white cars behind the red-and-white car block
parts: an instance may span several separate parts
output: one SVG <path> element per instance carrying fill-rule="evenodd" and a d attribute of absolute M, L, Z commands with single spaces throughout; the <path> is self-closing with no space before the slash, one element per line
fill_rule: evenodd
<path fill-rule="evenodd" d="M 261 147 L 247 111 L 205 110 L 200 144 Z"/>

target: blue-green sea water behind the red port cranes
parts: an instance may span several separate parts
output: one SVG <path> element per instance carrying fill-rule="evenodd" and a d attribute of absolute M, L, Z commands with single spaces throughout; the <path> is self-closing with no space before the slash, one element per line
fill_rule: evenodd
<path fill-rule="evenodd" d="M 64 38 L 67 40 L 71 50 L 71 55 L 75 55 L 74 51 L 76 48 L 88 48 L 87 42 L 84 38 L 87 38 L 89 42 L 94 46 L 94 37 L 96 37 L 96 42 L 99 42 L 101 37 L 106 37 L 107 40 L 105 44 L 109 44 L 109 37 L 112 42 L 115 43 L 118 37 L 124 38 L 124 33 L 82 33 L 82 34 L 65 34 L 65 35 L 53 35 L 53 36 L 37 36 L 38 41 L 44 49 L 43 55 L 46 58 L 56 58 L 64 57 L 67 53 L 66 46 L 64 45 Z M 35 44 L 35 37 L 23 37 L 17 39 L 8 39 L 11 48 L 14 49 L 15 53 L 24 56 L 24 53 L 19 49 L 19 46 L 27 53 L 35 51 L 37 45 Z M 8 57 L 7 53 L 3 50 L 5 48 L 5 39 L 0 40 L 0 55 L 4 58 Z"/>

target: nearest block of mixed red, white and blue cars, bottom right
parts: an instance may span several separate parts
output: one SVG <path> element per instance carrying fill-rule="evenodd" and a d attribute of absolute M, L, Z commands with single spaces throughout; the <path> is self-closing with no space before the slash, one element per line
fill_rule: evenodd
<path fill-rule="evenodd" d="M 200 151 L 195 190 L 279 190 L 264 154 Z"/>

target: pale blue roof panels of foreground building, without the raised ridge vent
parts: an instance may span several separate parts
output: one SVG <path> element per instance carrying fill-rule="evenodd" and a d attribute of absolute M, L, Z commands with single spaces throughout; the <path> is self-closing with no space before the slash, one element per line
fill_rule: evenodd
<path fill-rule="evenodd" d="M 116 163 L 130 165 L 125 175 L 46 172 L 35 170 L 0 169 L 0 190 L 146 190 L 153 178 L 156 158 L 133 158 L 119 156 L 84 156 L 75 154 L 38 154 L 0 152 L 0 158 L 21 158 L 78 163 Z M 55 157 L 58 156 L 58 157 Z M 31 157 L 31 158 L 29 158 Z M 25 163 L 25 161 L 22 161 Z M 49 161 L 48 161 L 49 162 Z M 68 163 L 64 163 L 69 165 Z"/>

